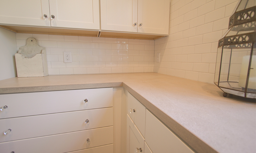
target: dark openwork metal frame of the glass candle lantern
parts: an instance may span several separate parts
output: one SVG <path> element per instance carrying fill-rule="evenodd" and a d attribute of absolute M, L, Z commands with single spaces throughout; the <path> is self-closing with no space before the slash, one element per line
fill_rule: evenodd
<path fill-rule="evenodd" d="M 242 0 L 240 0 L 235 8 L 234 11 L 238 8 L 239 4 L 241 3 Z M 247 1 L 248 3 L 248 1 Z M 247 4 L 246 3 L 246 4 Z M 237 11 L 231 17 L 229 18 L 229 25 L 228 25 L 228 31 L 222 36 L 222 38 L 219 40 L 218 43 L 218 48 L 221 48 L 221 57 L 220 57 L 220 69 L 219 72 L 217 71 L 217 61 L 216 61 L 216 70 L 215 70 L 215 76 L 214 76 L 214 84 L 216 84 L 224 93 L 223 96 L 226 97 L 227 93 L 235 94 L 238 96 L 242 96 L 245 98 L 256 98 L 256 90 L 250 89 L 248 90 L 248 82 L 249 82 L 249 75 L 250 75 L 250 70 L 251 64 L 252 64 L 252 55 L 253 51 L 255 52 L 256 48 L 256 30 L 255 30 L 255 21 L 256 21 L 256 14 L 255 11 L 256 6 Z M 229 35 L 228 33 L 230 31 L 237 31 L 242 32 L 242 34 L 237 34 L 237 35 Z M 243 33 L 244 31 L 244 33 Z M 249 33 L 246 33 L 248 31 Z M 228 35 L 228 36 L 227 36 Z M 237 49 L 237 48 L 249 48 L 251 49 L 250 53 L 250 59 L 249 59 L 249 67 L 247 71 L 247 78 L 246 78 L 246 84 L 245 88 L 241 90 L 241 88 L 236 89 L 235 87 L 232 87 L 231 84 L 238 84 L 238 82 L 234 81 L 229 81 L 229 75 L 230 75 L 230 65 L 231 65 L 231 57 L 232 57 L 232 50 Z M 227 80 L 220 81 L 220 76 L 221 76 L 221 65 L 222 65 L 222 55 L 223 55 L 223 49 L 230 49 L 230 59 L 228 66 L 228 73 L 227 73 Z M 254 53 L 255 54 L 255 53 Z M 218 52 L 217 52 L 218 56 Z M 219 74 L 218 74 L 219 73 Z M 218 82 L 215 80 L 216 75 L 218 75 Z M 229 84 L 230 88 L 225 87 L 223 85 L 220 85 L 220 83 L 227 83 Z"/>

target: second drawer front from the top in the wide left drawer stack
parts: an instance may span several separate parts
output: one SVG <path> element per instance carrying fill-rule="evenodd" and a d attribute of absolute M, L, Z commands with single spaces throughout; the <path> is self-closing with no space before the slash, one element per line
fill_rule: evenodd
<path fill-rule="evenodd" d="M 1 119 L 0 125 L 0 142 L 107 127 L 113 126 L 113 107 Z"/>

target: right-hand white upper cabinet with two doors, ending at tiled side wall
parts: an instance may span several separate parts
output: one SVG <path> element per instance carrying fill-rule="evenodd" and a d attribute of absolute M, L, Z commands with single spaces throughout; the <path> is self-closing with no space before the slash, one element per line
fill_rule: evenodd
<path fill-rule="evenodd" d="M 101 30 L 169 34 L 169 0 L 100 0 Z"/>

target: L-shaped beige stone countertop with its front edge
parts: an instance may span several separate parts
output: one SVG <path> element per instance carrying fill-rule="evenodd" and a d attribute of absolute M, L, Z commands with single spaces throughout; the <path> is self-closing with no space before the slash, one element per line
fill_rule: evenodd
<path fill-rule="evenodd" d="M 0 81 L 0 94 L 123 86 L 198 153 L 256 153 L 255 99 L 158 73 L 50 75 Z"/>

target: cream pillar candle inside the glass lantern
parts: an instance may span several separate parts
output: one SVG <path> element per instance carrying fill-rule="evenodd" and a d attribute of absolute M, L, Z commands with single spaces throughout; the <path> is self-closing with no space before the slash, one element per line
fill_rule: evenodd
<path fill-rule="evenodd" d="M 250 55 L 243 57 L 238 85 L 245 88 L 248 73 Z M 256 55 L 252 55 L 251 70 L 249 75 L 248 89 L 256 89 Z"/>

